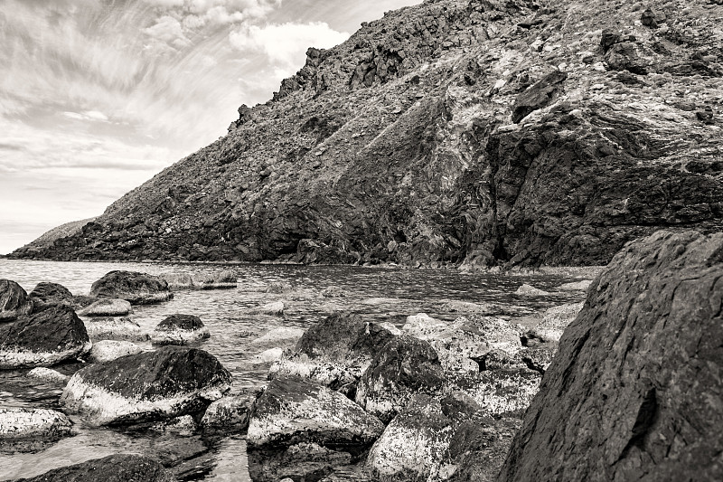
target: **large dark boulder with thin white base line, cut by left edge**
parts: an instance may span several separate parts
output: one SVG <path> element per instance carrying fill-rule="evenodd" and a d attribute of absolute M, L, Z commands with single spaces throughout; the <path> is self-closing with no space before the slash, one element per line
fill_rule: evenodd
<path fill-rule="evenodd" d="M 87 353 L 91 345 L 75 311 L 56 305 L 0 326 L 0 369 L 59 364 Z"/>

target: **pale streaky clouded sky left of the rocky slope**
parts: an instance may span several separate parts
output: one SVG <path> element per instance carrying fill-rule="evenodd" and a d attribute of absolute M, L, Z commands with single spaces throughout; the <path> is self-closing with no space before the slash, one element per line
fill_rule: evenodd
<path fill-rule="evenodd" d="M 310 46 L 420 0 L 0 0 L 0 253 L 226 134 Z"/>

